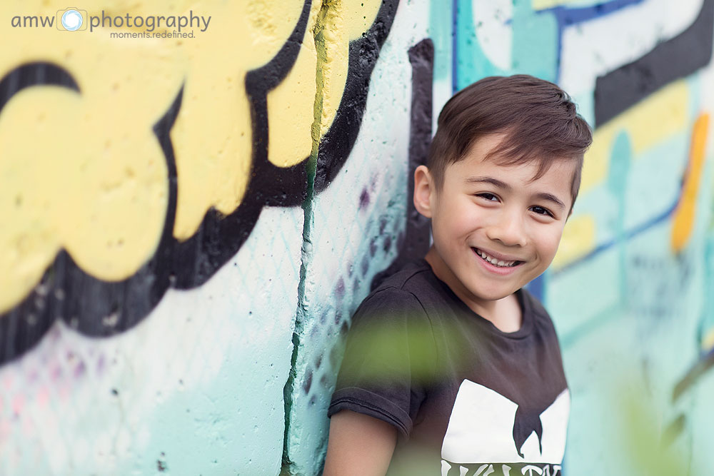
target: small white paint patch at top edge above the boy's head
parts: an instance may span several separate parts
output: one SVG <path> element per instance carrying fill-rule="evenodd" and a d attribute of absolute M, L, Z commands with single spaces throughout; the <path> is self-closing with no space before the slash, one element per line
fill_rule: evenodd
<path fill-rule="evenodd" d="M 476 39 L 488 61 L 501 69 L 511 69 L 513 50 L 513 3 L 511 0 L 473 0 Z"/>

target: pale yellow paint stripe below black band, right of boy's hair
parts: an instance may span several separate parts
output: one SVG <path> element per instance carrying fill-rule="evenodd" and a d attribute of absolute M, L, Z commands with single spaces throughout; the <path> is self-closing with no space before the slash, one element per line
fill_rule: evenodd
<path fill-rule="evenodd" d="M 587 193 L 607 177 L 610 151 L 620 131 L 627 131 L 636 160 L 643 151 L 684 130 L 688 104 L 686 81 L 675 81 L 598 127 L 593 133 L 593 146 L 585 153 L 580 193 Z"/>

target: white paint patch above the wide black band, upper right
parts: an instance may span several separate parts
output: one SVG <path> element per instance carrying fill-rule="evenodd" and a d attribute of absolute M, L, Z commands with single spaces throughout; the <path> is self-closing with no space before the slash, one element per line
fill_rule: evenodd
<path fill-rule="evenodd" d="M 572 96 L 592 94 L 598 76 L 638 59 L 687 29 L 702 1 L 648 0 L 566 28 L 560 51 L 560 86 Z"/>

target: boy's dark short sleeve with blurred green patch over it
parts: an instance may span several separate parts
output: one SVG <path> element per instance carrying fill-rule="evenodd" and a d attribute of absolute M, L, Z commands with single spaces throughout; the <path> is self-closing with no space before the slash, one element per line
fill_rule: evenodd
<path fill-rule="evenodd" d="M 397 288 L 376 291 L 353 316 L 328 416 L 352 410 L 408 437 L 435 360 L 431 323 L 416 296 Z"/>

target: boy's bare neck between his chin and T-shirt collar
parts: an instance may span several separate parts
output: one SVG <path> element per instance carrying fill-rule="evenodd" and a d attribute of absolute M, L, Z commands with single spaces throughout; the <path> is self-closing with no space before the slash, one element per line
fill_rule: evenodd
<path fill-rule="evenodd" d="M 461 283 L 461 280 L 456 278 L 456 275 L 444 263 L 433 246 L 429 248 L 424 259 L 429 263 L 436 277 L 446 283 L 453 293 L 474 313 L 490 321 L 501 332 L 513 333 L 521 329 L 523 313 L 515 294 L 509 294 L 505 298 L 498 300 L 477 298 Z"/>

